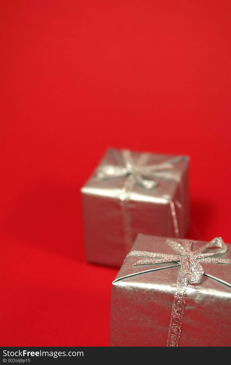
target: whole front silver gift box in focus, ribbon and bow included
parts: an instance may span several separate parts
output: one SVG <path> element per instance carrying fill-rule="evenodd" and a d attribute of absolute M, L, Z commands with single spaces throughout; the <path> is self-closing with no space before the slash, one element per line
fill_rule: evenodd
<path fill-rule="evenodd" d="M 112 283 L 110 346 L 230 346 L 230 328 L 231 245 L 138 235 Z"/>

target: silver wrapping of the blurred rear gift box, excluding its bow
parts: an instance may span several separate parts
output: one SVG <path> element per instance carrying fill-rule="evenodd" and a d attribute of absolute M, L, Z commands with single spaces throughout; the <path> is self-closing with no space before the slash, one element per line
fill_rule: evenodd
<path fill-rule="evenodd" d="M 171 169 L 157 167 L 150 178 L 156 183 L 153 188 L 139 184 L 129 173 L 100 177 L 102 167 L 126 167 L 124 151 L 108 149 L 81 188 L 85 253 L 91 263 L 120 267 L 138 233 L 185 237 L 188 230 L 189 158 L 127 151 L 138 168 L 173 161 Z"/>

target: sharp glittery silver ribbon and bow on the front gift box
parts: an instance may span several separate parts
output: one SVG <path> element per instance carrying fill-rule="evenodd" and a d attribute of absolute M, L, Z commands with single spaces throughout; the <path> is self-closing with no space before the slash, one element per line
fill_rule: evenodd
<path fill-rule="evenodd" d="M 204 269 L 199 262 L 231 264 L 230 259 L 211 258 L 213 255 L 223 254 L 227 251 L 227 246 L 221 237 L 214 238 L 197 251 L 191 251 L 192 242 L 192 240 L 185 239 L 184 246 L 181 246 L 179 242 L 167 239 L 167 245 L 172 247 L 178 253 L 177 255 L 147 251 L 131 251 L 127 255 L 127 257 L 143 257 L 136 261 L 133 265 L 161 264 L 162 262 L 175 261 L 181 266 L 180 273 L 177 278 L 176 293 L 174 295 L 167 346 L 178 346 L 186 304 L 185 297 L 188 282 L 190 284 L 199 284 L 204 274 Z M 215 248 L 215 250 L 213 249 L 212 251 L 204 252 L 212 247 Z"/>

